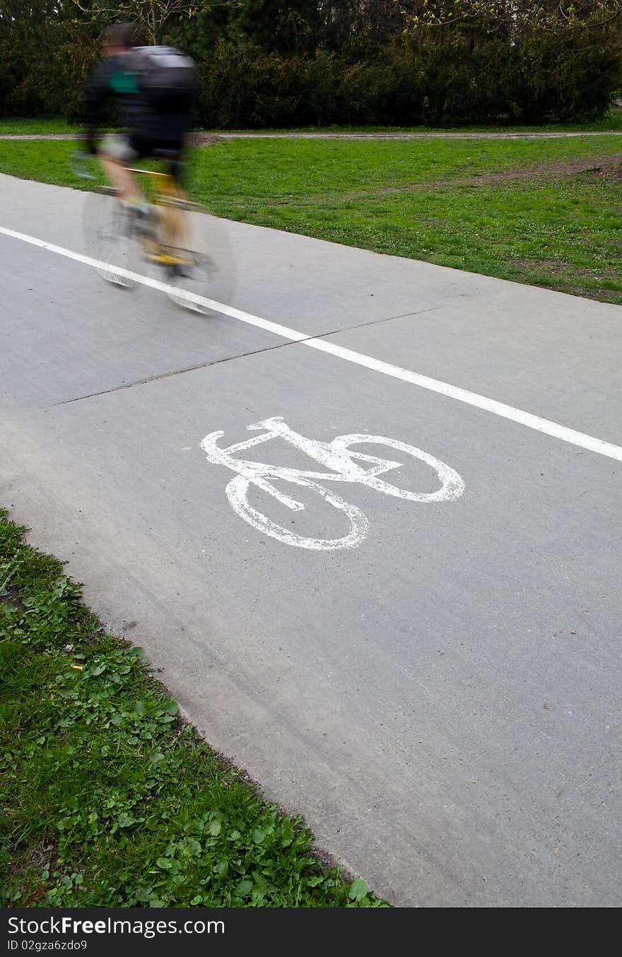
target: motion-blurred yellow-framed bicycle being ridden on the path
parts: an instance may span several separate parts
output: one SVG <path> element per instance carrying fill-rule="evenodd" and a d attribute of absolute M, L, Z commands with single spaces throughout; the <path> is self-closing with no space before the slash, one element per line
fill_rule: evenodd
<path fill-rule="evenodd" d="M 173 154 L 158 150 L 154 158 L 170 162 Z M 75 153 L 73 171 L 97 182 L 87 172 L 88 154 Z M 191 202 L 168 171 L 130 168 L 144 179 L 149 200 L 145 214 L 120 201 L 117 189 L 97 186 L 88 194 L 83 211 L 84 240 L 97 260 L 96 272 L 114 285 L 133 288 L 145 263 L 148 272 L 167 286 L 169 300 L 193 312 L 207 313 L 197 301 L 227 301 L 233 287 L 233 256 L 224 220 Z M 120 271 L 121 270 L 121 271 Z"/>

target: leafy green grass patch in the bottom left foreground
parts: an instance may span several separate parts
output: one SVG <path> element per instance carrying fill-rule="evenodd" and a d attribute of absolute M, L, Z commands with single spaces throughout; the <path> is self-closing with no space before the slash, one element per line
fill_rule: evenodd
<path fill-rule="evenodd" d="M 0 510 L 0 904 L 386 906 L 312 853 Z"/>

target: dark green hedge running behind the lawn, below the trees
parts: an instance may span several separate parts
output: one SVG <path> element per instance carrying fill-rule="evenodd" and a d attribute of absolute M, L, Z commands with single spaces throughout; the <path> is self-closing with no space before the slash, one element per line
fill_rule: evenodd
<path fill-rule="evenodd" d="M 619 40 L 615 27 L 598 36 L 531 33 L 515 42 L 421 28 L 359 62 L 322 49 L 286 57 L 220 41 L 198 64 L 196 120 L 231 129 L 595 119 L 620 87 Z M 0 116 L 79 119 L 97 37 L 61 21 L 31 37 L 30 48 L 21 41 L 0 21 Z"/>

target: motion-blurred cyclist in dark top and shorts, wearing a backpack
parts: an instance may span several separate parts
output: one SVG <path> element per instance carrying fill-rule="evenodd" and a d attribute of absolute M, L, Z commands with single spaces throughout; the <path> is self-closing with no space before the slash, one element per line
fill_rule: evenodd
<path fill-rule="evenodd" d="M 85 126 L 87 150 L 98 156 L 122 201 L 140 211 L 144 195 L 127 164 L 166 150 L 169 171 L 179 183 L 197 80 L 189 56 L 171 47 L 142 47 L 138 39 L 131 23 L 116 23 L 103 32 L 102 60 L 86 95 Z M 98 147 L 107 100 L 119 106 L 126 133 L 104 136 Z"/>

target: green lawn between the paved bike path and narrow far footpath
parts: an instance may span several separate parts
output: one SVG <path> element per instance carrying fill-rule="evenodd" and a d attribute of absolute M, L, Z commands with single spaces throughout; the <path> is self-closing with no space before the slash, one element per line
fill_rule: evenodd
<path fill-rule="evenodd" d="M 0 171 L 83 187 L 75 145 L 0 141 Z M 234 140 L 189 193 L 232 219 L 622 303 L 622 142 Z"/>

